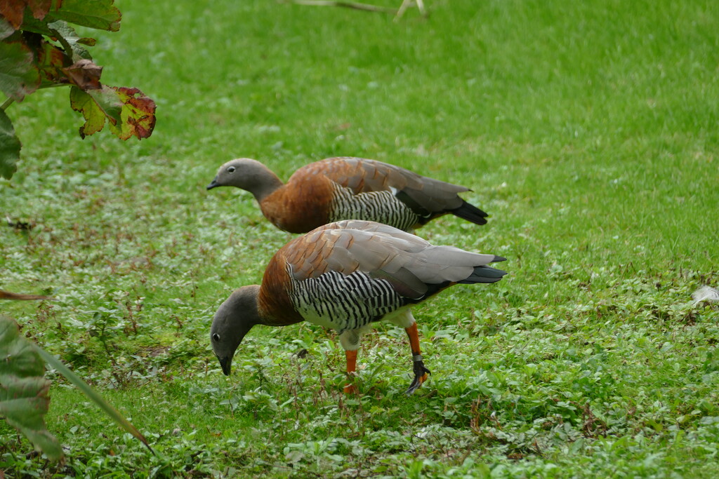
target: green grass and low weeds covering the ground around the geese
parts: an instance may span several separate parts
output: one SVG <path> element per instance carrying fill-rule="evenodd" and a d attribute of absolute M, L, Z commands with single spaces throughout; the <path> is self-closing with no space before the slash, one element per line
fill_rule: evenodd
<path fill-rule="evenodd" d="M 398 4 L 399 1 L 375 1 Z M 62 89 L 8 110 L 24 143 L 0 209 L 2 304 L 147 435 L 50 373 L 48 465 L 0 422 L 6 477 L 712 477 L 719 474 L 719 7 L 714 1 L 427 0 L 428 20 L 262 0 L 119 1 L 93 57 L 157 101 L 150 139 L 84 141 Z M 472 188 L 477 227 L 434 243 L 506 256 L 489 287 L 362 344 L 359 389 L 311 325 L 255 328 L 222 376 L 209 322 L 291 237 L 233 157 L 286 179 L 333 155 Z M 302 358 L 297 353 L 306 349 Z"/>

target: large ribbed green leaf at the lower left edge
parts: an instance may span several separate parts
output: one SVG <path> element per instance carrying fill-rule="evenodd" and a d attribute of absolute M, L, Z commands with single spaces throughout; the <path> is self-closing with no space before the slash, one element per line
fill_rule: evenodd
<path fill-rule="evenodd" d="M 19 334 L 17 323 L 0 316 L 0 414 L 47 458 L 63 457 L 58 440 L 45 427 L 50 381 L 35 345 Z"/>

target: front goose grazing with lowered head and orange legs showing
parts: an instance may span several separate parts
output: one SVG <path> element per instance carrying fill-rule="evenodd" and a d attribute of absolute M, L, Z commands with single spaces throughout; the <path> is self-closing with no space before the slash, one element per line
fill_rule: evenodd
<path fill-rule="evenodd" d="M 382 319 L 409 337 L 413 393 L 426 379 L 411 305 L 453 284 L 494 283 L 506 273 L 487 266 L 505 261 L 454 246 L 432 246 L 380 223 L 346 220 L 294 238 L 273 256 L 262 285 L 235 290 L 214 315 L 212 349 L 229 376 L 232 357 L 255 325 L 286 326 L 306 320 L 339 332 L 347 373 L 356 370 L 359 338 Z M 349 384 L 345 391 L 354 391 Z"/>

